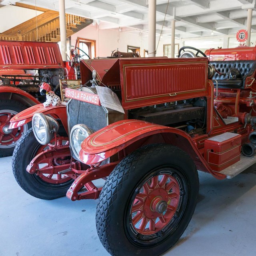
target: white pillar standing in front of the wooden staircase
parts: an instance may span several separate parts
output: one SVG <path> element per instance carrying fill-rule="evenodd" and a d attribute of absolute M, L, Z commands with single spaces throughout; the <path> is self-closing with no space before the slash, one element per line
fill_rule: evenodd
<path fill-rule="evenodd" d="M 62 60 L 67 60 L 67 32 L 66 32 L 66 15 L 65 0 L 59 0 L 60 13 L 60 50 Z"/>

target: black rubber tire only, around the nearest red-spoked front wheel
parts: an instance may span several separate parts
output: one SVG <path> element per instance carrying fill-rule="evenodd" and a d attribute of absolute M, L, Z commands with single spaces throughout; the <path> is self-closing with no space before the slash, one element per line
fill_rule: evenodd
<path fill-rule="evenodd" d="M 158 242 L 138 244 L 127 231 L 127 208 L 132 194 L 146 176 L 159 167 L 172 166 L 185 177 L 184 211 L 180 221 L 169 228 Z M 180 148 L 167 144 L 144 146 L 124 158 L 114 168 L 100 193 L 96 209 L 96 228 L 104 248 L 112 255 L 160 255 L 170 249 L 185 231 L 196 207 L 198 172 L 192 159 Z M 164 231 L 166 232 L 166 231 Z M 168 233 L 169 232 L 169 233 Z M 136 243 L 135 243 L 136 242 Z"/>

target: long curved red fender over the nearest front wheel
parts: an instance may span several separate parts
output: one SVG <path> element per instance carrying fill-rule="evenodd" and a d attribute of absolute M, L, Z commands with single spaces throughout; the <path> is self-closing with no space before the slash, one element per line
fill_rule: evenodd
<path fill-rule="evenodd" d="M 162 134 L 164 143 L 174 144 L 187 151 L 196 162 L 196 165 L 200 166 L 199 170 L 209 172 L 219 179 L 225 178 L 224 175 L 216 174 L 211 170 L 196 144 L 186 132 L 140 120 L 118 121 L 94 132 L 82 142 L 79 158 L 85 164 L 94 165 L 138 140 L 157 134 Z"/>

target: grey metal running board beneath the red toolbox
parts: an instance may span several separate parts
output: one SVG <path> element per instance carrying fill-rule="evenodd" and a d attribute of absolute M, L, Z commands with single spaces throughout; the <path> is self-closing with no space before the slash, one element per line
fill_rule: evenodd
<path fill-rule="evenodd" d="M 249 168 L 255 163 L 256 163 L 256 155 L 248 157 L 241 154 L 241 158 L 239 162 L 232 164 L 231 166 L 229 166 L 228 168 L 220 172 L 216 172 L 216 171 L 215 172 L 226 175 L 227 179 L 232 179 L 236 175 L 240 174 L 241 172 L 243 172 L 244 170 L 246 170 L 247 168 Z"/>

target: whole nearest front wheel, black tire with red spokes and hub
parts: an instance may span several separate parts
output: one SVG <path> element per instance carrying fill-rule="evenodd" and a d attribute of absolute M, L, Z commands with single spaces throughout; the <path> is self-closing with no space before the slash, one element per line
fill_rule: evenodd
<path fill-rule="evenodd" d="M 198 173 L 180 148 L 153 144 L 114 168 L 100 193 L 96 227 L 112 255 L 160 255 L 188 226 L 196 207 Z"/>

